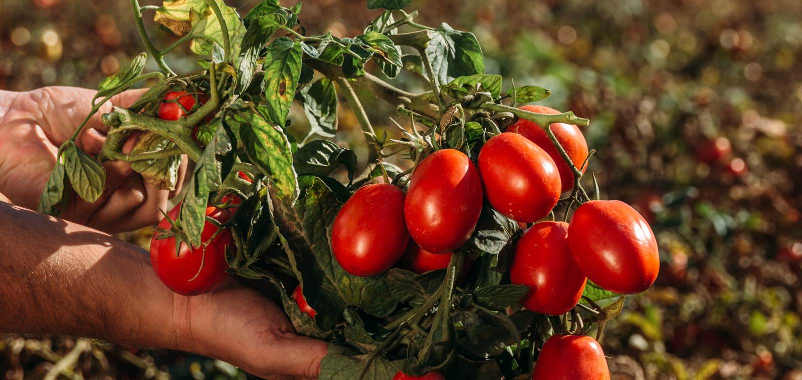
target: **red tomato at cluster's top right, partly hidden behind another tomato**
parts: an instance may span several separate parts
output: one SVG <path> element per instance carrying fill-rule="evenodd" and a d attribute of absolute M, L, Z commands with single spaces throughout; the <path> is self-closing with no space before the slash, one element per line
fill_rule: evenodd
<path fill-rule="evenodd" d="M 556 115 L 561 113 L 553 108 L 529 105 L 520 107 L 524 111 L 535 112 L 538 114 Z M 573 166 L 577 169 L 582 168 L 585 159 L 588 158 L 588 143 L 585 141 L 585 136 L 579 130 L 579 127 L 573 124 L 566 123 L 552 123 L 552 133 L 557 137 L 557 141 L 568 153 L 568 156 L 573 162 Z M 560 172 L 560 182 L 562 184 L 561 192 L 568 192 L 573 189 L 573 172 L 568 164 L 565 164 L 565 159 L 562 158 L 557 147 L 554 146 L 549 135 L 537 123 L 527 119 L 518 119 L 516 123 L 507 128 L 508 132 L 517 133 L 531 140 L 533 143 L 541 147 L 557 164 L 557 170 Z M 585 168 L 586 170 L 587 168 Z M 585 170 L 582 170 L 584 173 Z"/>

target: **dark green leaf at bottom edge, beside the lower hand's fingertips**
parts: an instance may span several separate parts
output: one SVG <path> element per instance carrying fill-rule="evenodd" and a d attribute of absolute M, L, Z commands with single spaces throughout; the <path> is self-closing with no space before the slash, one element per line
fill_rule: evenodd
<path fill-rule="evenodd" d="M 371 360 L 372 359 L 372 360 Z M 383 355 L 373 358 L 343 347 L 329 346 L 329 354 L 320 363 L 319 380 L 390 380 L 399 371 L 395 363 Z M 361 377 L 360 377 L 361 376 Z"/>

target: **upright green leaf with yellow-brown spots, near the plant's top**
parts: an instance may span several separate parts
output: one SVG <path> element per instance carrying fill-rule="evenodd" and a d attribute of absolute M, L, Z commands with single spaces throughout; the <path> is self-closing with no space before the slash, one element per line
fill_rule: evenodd
<path fill-rule="evenodd" d="M 301 42 L 287 37 L 270 43 L 265 61 L 267 119 L 284 127 L 301 77 Z"/>

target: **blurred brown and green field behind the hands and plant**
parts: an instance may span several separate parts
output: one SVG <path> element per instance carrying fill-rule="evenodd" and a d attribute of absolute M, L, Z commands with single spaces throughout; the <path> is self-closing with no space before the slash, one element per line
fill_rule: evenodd
<path fill-rule="evenodd" d="M 257 1 L 228 3 L 244 16 Z M 802 2 L 413 0 L 406 10 L 475 33 L 505 87 L 549 88 L 542 104 L 589 118 L 602 197 L 649 218 L 661 273 L 605 330 L 615 379 L 802 379 Z M 309 34 L 343 37 L 378 14 L 364 1 L 310 0 L 300 19 Z M 156 46 L 175 40 L 146 27 Z M 2 89 L 94 87 L 141 51 L 128 2 L 0 1 Z M 189 55 L 169 63 L 196 67 Z M 424 89 L 411 75 L 396 83 Z M 380 127 L 400 119 L 364 103 Z M 364 148 L 345 108 L 337 139 Z M 291 117 L 302 135 L 302 112 Z M 711 161 L 721 137 L 729 152 Z M 122 237 L 147 245 L 149 233 Z M 245 378 L 205 358 L 99 342 L 10 337 L 0 352 L 9 379 Z"/>

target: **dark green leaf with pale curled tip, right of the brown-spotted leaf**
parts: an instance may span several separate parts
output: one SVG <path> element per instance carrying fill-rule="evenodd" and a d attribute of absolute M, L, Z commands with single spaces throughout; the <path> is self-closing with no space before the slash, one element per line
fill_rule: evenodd
<path fill-rule="evenodd" d="M 301 103 L 310 123 L 310 131 L 304 140 L 309 139 L 313 134 L 334 137 L 337 132 L 339 103 L 334 83 L 330 79 L 321 78 L 311 86 L 302 88 L 301 91 L 298 91 L 298 95 L 295 95 L 295 99 Z"/>

